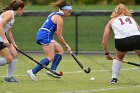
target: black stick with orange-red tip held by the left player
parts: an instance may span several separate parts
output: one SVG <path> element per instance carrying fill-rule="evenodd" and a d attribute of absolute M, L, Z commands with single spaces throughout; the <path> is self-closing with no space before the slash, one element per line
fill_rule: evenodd
<path fill-rule="evenodd" d="M 15 48 L 16 48 L 16 47 L 15 47 Z M 56 71 L 53 71 L 53 70 L 51 70 L 50 68 L 46 67 L 45 65 L 39 63 L 39 62 L 36 61 L 34 58 L 32 58 L 31 56 L 25 54 L 24 52 L 22 52 L 22 51 L 19 50 L 18 48 L 16 48 L 16 50 L 17 50 L 18 52 L 20 52 L 21 54 L 23 54 L 24 56 L 28 57 L 28 58 L 29 58 L 30 60 L 32 60 L 33 62 L 39 64 L 41 67 L 43 67 L 43 68 L 45 68 L 46 70 L 52 72 L 53 74 L 55 74 L 55 75 L 57 75 L 57 76 L 62 76 L 62 75 L 63 75 L 63 72 L 62 72 L 62 71 L 60 71 L 60 73 L 57 73 Z"/>

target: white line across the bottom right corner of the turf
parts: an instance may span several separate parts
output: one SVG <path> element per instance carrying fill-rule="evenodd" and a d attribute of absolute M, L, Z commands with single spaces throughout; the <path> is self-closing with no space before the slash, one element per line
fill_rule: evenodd
<path fill-rule="evenodd" d="M 95 90 L 81 90 L 81 91 L 71 91 L 71 92 L 61 92 L 61 93 L 82 93 L 82 92 L 98 92 L 98 91 L 107 91 L 107 90 L 117 90 L 117 89 L 126 89 L 126 88 L 140 88 L 138 86 L 126 86 L 126 87 L 113 87 L 113 88 L 100 88 Z"/>

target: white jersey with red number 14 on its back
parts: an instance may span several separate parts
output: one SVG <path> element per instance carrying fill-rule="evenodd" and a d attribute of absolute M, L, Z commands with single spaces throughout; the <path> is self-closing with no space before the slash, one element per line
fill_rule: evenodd
<path fill-rule="evenodd" d="M 111 24 L 114 31 L 114 38 L 121 39 L 134 35 L 140 35 L 137 23 L 130 16 L 119 16 Z"/>

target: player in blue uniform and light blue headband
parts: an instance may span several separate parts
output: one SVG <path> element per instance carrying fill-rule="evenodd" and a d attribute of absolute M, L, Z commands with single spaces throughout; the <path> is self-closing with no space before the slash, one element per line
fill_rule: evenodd
<path fill-rule="evenodd" d="M 72 6 L 68 4 L 66 0 L 58 0 L 57 2 L 53 3 L 54 7 L 58 9 L 57 12 L 52 12 L 45 22 L 43 23 L 42 27 L 38 30 L 36 34 L 36 42 L 37 44 L 41 45 L 46 58 L 40 61 L 43 65 L 49 65 L 52 62 L 51 68 L 53 71 L 56 71 L 58 64 L 62 59 L 62 55 L 64 50 L 61 45 L 66 48 L 68 52 L 71 51 L 71 48 L 66 43 L 62 36 L 62 28 L 63 28 L 63 19 L 62 16 L 70 16 L 72 11 Z M 54 40 L 53 35 L 56 35 L 61 45 Z M 30 76 L 32 80 L 37 80 L 36 74 L 42 70 L 40 65 L 32 68 L 31 70 L 27 71 L 27 74 Z M 61 76 L 57 76 L 49 71 L 47 74 L 53 76 L 55 78 L 61 78 Z"/>

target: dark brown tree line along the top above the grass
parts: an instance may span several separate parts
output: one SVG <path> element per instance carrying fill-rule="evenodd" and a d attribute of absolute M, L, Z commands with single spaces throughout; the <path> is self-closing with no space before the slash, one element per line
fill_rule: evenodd
<path fill-rule="evenodd" d="M 53 1 L 57 0 L 23 0 L 28 4 L 49 4 Z M 68 0 L 71 4 L 118 4 L 118 3 L 124 3 L 124 4 L 140 4 L 140 0 Z"/>

